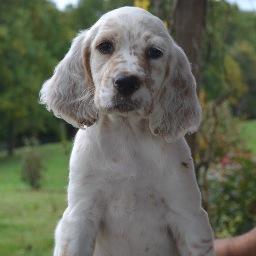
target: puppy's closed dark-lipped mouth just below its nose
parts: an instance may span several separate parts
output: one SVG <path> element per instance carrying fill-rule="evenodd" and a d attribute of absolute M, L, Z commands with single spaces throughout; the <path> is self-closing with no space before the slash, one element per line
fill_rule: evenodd
<path fill-rule="evenodd" d="M 140 103 L 130 98 L 115 95 L 112 99 L 112 104 L 106 107 L 108 112 L 120 112 L 127 113 L 131 111 L 138 110 L 140 108 Z"/>

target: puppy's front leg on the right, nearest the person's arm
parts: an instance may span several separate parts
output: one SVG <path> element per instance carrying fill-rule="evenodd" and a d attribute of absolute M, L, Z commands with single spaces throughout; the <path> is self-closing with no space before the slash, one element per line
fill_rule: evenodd
<path fill-rule="evenodd" d="M 213 256 L 213 235 L 191 159 L 181 162 L 169 189 L 168 225 L 181 256 Z"/>

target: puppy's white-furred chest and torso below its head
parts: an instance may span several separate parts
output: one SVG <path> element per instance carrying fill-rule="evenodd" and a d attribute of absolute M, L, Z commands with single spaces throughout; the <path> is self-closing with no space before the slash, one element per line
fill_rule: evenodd
<path fill-rule="evenodd" d="M 185 236 L 187 222 L 206 222 L 199 234 L 211 242 L 185 140 L 168 144 L 126 122 L 106 127 L 80 130 L 71 155 L 63 218 L 80 223 L 80 243 L 95 236 L 94 256 L 174 256 L 197 240 Z"/>

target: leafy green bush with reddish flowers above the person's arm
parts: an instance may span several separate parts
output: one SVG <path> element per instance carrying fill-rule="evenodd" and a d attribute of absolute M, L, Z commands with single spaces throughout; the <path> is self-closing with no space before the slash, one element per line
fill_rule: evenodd
<path fill-rule="evenodd" d="M 250 153 L 228 153 L 209 173 L 208 213 L 219 237 L 256 225 L 256 161 Z"/>

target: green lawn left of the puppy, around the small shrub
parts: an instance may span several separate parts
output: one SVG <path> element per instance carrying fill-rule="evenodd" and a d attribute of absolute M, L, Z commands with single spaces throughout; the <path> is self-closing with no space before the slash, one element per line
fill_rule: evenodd
<path fill-rule="evenodd" d="M 0 255 L 52 254 L 57 220 L 66 205 L 68 159 L 60 144 L 40 146 L 44 163 L 41 190 L 33 191 L 20 178 L 22 155 L 0 155 Z"/>

